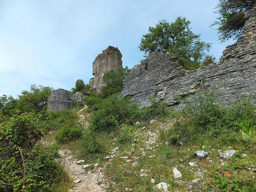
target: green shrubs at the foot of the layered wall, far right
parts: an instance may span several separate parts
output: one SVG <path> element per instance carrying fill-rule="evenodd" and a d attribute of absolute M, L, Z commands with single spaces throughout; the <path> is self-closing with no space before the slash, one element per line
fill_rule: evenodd
<path fill-rule="evenodd" d="M 238 98 L 237 103 L 230 108 L 220 107 L 216 104 L 216 98 L 214 91 L 197 92 L 184 109 L 191 115 L 194 125 L 204 128 L 207 135 L 217 136 L 229 129 L 239 131 L 245 116 L 251 124 L 255 122 L 255 106 L 250 102 L 250 97 Z"/>

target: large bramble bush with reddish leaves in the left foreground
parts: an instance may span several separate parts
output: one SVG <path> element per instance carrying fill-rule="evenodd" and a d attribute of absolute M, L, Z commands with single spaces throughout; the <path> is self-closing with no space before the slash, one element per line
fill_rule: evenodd
<path fill-rule="evenodd" d="M 44 135 L 39 123 L 27 113 L 0 116 L 0 188 L 5 191 L 53 191 L 60 182 L 68 182 L 64 168 L 55 160 L 57 149 L 36 146 Z"/>

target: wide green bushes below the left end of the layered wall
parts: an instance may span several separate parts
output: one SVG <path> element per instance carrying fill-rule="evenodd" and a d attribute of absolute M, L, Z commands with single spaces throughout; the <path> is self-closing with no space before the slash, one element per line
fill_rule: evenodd
<path fill-rule="evenodd" d="M 99 100 L 98 100 L 99 99 Z M 119 97 L 113 94 L 102 100 L 96 93 L 86 98 L 86 104 L 94 109 L 91 118 L 93 130 L 107 130 L 115 128 L 126 122 L 133 124 L 136 121 L 144 121 L 152 117 L 166 117 L 169 114 L 166 103 L 157 101 L 156 97 L 151 97 L 151 105 L 146 108 L 139 108 L 136 103 L 132 103 L 129 97 Z"/>

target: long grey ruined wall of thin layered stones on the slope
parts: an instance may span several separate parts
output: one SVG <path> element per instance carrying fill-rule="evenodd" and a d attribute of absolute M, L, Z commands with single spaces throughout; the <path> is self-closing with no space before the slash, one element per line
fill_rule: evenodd
<path fill-rule="evenodd" d="M 220 61 L 188 73 L 180 66 L 177 57 L 165 51 L 153 52 L 147 59 L 132 68 L 126 78 L 121 95 L 131 101 L 150 105 L 149 95 L 164 100 L 168 106 L 181 109 L 184 104 L 177 96 L 194 94 L 194 91 L 216 87 L 220 104 L 234 103 L 240 95 L 256 93 L 256 5 L 245 13 L 245 25 L 237 42 L 223 51 Z M 256 100 L 253 100 L 256 104 Z"/>

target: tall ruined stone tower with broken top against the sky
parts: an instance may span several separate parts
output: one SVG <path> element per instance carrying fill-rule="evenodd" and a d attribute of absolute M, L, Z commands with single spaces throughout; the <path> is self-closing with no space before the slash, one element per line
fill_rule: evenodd
<path fill-rule="evenodd" d="M 113 69 L 117 71 L 117 68 L 122 67 L 122 54 L 117 47 L 108 46 L 106 50 L 103 50 L 92 63 L 92 75 L 89 84 L 93 87 L 96 93 L 100 93 L 103 84 L 103 75 L 107 71 Z"/>

